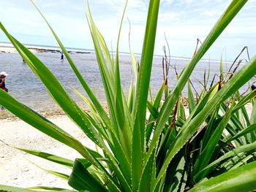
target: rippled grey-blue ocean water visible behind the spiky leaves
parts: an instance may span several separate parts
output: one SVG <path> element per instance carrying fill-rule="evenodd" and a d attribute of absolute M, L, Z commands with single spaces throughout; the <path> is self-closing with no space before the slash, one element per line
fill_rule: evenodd
<path fill-rule="evenodd" d="M 64 58 L 64 61 L 60 61 L 60 53 L 45 52 L 35 54 L 46 66 L 48 66 L 53 74 L 56 75 L 58 80 L 61 82 L 61 85 L 64 86 L 70 96 L 72 96 L 78 104 L 83 105 L 83 101 L 72 91 L 72 88 L 77 89 L 83 94 L 85 94 L 85 92 L 83 91 L 80 82 L 78 82 L 78 79 L 75 77 L 74 72 L 72 72 L 71 67 L 67 63 L 67 59 Z M 93 52 L 73 52 L 71 53 L 71 56 L 99 101 L 101 101 L 102 104 L 106 104 L 104 88 L 95 54 Z M 140 60 L 139 56 L 138 60 Z M 181 70 L 184 69 L 184 66 L 186 66 L 188 62 L 189 60 L 184 58 L 170 59 L 170 65 L 176 66 L 178 74 L 181 73 Z M 214 77 L 214 74 L 217 74 L 215 82 L 219 79 L 219 61 L 200 61 L 191 76 L 191 81 L 199 93 L 203 88 L 202 83 L 204 79 L 204 72 L 208 72 L 209 66 L 210 81 Z M 223 63 L 225 71 L 227 71 L 229 67 L 230 63 Z M 132 81 L 132 64 L 129 55 L 120 55 L 120 70 L 121 83 L 124 88 L 124 93 L 127 94 L 130 82 Z M 28 107 L 37 111 L 58 108 L 53 99 L 50 98 L 48 91 L 46 91 L 42 82 L 40 82 L 31 69 L 29 69 L 29 66 L 23 62 L 18 53 L 0 53 L 0 71 L 5 71 L 9 74 L 6 79 L 6 86 L 9 89 L 9 93 L 21 103 L 26 104 Z M 151 72 L 151 90 L 154 96 L 157 94 L 162 82 L 162 57 L 157 56 L 154 58 L 153 69 Z M 175 70 L 170 67 L 168 80 L 170 90 L 175 82 Z M 211 82 L 209 82 L 209 84 L 210 83 Z M 246 88 L 248 88 L 248 86 L 244 86 L 241 92 L 246 91 Z M 187 88 L 184 89 L 183 94 L 184 96 L 187 95 Z"/>

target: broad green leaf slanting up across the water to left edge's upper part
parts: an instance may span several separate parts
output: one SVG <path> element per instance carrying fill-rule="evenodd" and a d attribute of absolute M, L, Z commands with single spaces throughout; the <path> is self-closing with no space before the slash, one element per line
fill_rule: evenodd
<path fill-rule="evenodd" d="M 23 56 L 26 61 L 26 64 L 29 65 L 31 70 L 37 74 L 40 80 L 45 84 L 45 87 L 48 88 L 50 96 L 56 101 L 57 104 L 64 110 L 64 112 L 69 115 L 69 117 L 80 126 L 80 128 L 86 133 L 86 135 L 99 145 L 99 137 L 94 129 L 91 129 L 86 125 L 86 119 L 84 117 L 84 112 L 80 110 L 75 101 L 73 101 L 64 88 L 61 86 L 59 81 L 54 77 L 53 73 L 50 72 L 47 66 L 45 66 L 42 61 L 39 60 L 35 55 L 33 55 L 26 47 L 24 47 L 20 42 L 18 42 L 14 37 L 12 37 L 0 23 L 0 28 L 4 31 L 4 34 L 12 42 L 12 45 L 15 46 L 16 50 Z M 94 134 L 92 134 L 94 131 Z"/>

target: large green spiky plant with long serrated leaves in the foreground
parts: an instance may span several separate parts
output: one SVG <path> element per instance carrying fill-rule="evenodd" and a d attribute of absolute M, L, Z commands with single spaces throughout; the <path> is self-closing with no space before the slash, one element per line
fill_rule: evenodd
<path fill-rule="evenodd" d="M 197 62 L 245 3 L 244 0 L 234 0 L 230 3 L 181 72 L 176 85 L 167 93 L 162 105 L 162 94 L 167 86 L 165 82 L 156 98 L 148 101 L 159 0 L 149 2 L 139 69 L 131 51 L 135 80 L 127 97 L 124 96 L 120 82 L 118 44 L 114 59 L 95 26 L 91 13 L 88 12 L 87 20 L 108 101 L 108 113 L 94 96 L 49 24 L 50 30 L 89 97 L 78 93 L 91 108 L 91 113 L 83 111 L 75 104 L 45 64 L 12 37 L 0 23 L 1 30 L 44 83 L 50 96 L 78 128 L 81 128 L 101 149 L 101 153 L 82 145 L 42 115 L 0 90 L 2 106 L 49 137 L 77 150 L 83 158 L 73 161 L 35 150 L 18 149 L 72 168 L 72 174 L 65 179 L 75 191 L 254 190 L 256 104 L 253 104 L 250 118 L 244 105 L 254 99 L 255 92 L 251 91 L 241 98 L 238 90 L 256 74 L 256 57 L 232 78 L 227 77 L 227 80 L 224 80 L 223 77 L 222 81 L 213 85 L 210 90 L 203 90 L 197 101 L 189 83 L 189 77 Z M 119 36 L 120 31 L 121 28 Z M 187 82 L 189 117 L 184 115 L 184 107 L 181 104 L 181 93 Z M 227 101 L 230 101 L 229 104 Z M 150 112 L 149 117 L 146 115 L 147 110 Z M 0 185 L 0 190 L 72 191 L 42 186 L 21 189 L 5 185 Z"/>

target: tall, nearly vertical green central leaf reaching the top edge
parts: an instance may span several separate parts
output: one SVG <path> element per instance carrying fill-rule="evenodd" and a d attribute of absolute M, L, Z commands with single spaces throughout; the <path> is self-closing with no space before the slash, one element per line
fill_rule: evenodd
<path fill-rule="evenodd" d="M 157 32 L 157 18 L 159 11 L 159 0 L 150 1 L 148 7 L 148 18 L 146 32 L 141 54 L 140 71 L 138 76 L 138 87 L 136 91 L 135 124 L 132 135 L 132 190 L 136 191 L 140 184 L 143 170 L 143 158 L 146 153 L 145 121 L 146 104 L 148 100 L 148 88 L 151 76 L 151 67 L 154 55 L 154 43 Z M 149 182 L 149 181 L 148 181 Z"/>

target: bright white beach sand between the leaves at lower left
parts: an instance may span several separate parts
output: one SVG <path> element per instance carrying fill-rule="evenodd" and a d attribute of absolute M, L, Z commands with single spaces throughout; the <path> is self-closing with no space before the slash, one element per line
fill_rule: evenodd
<path fill-rule="evenodd" d="M 67 116 L 61 115 L 50 120 L 65 131 L 68 131 L 76 139 L 79 139 L 87 147 L 94 147 L 93 143 L 86 139 L 85 134 Z M 1 140 L 15 147 L 40 150 L 72 160 L 80 157 L 80 154 L 75 150 L 66 145 L 61 145 L 22 120 L 0 120 L 0 133 Z M 65 174 L 71 172 L 69 168 L 20 152 L 0 142 L 0 184 L 19 187 L 42 185 L 69 188 L 67 181 L 48 174 L 30 161 L 56 172 Z"/>

